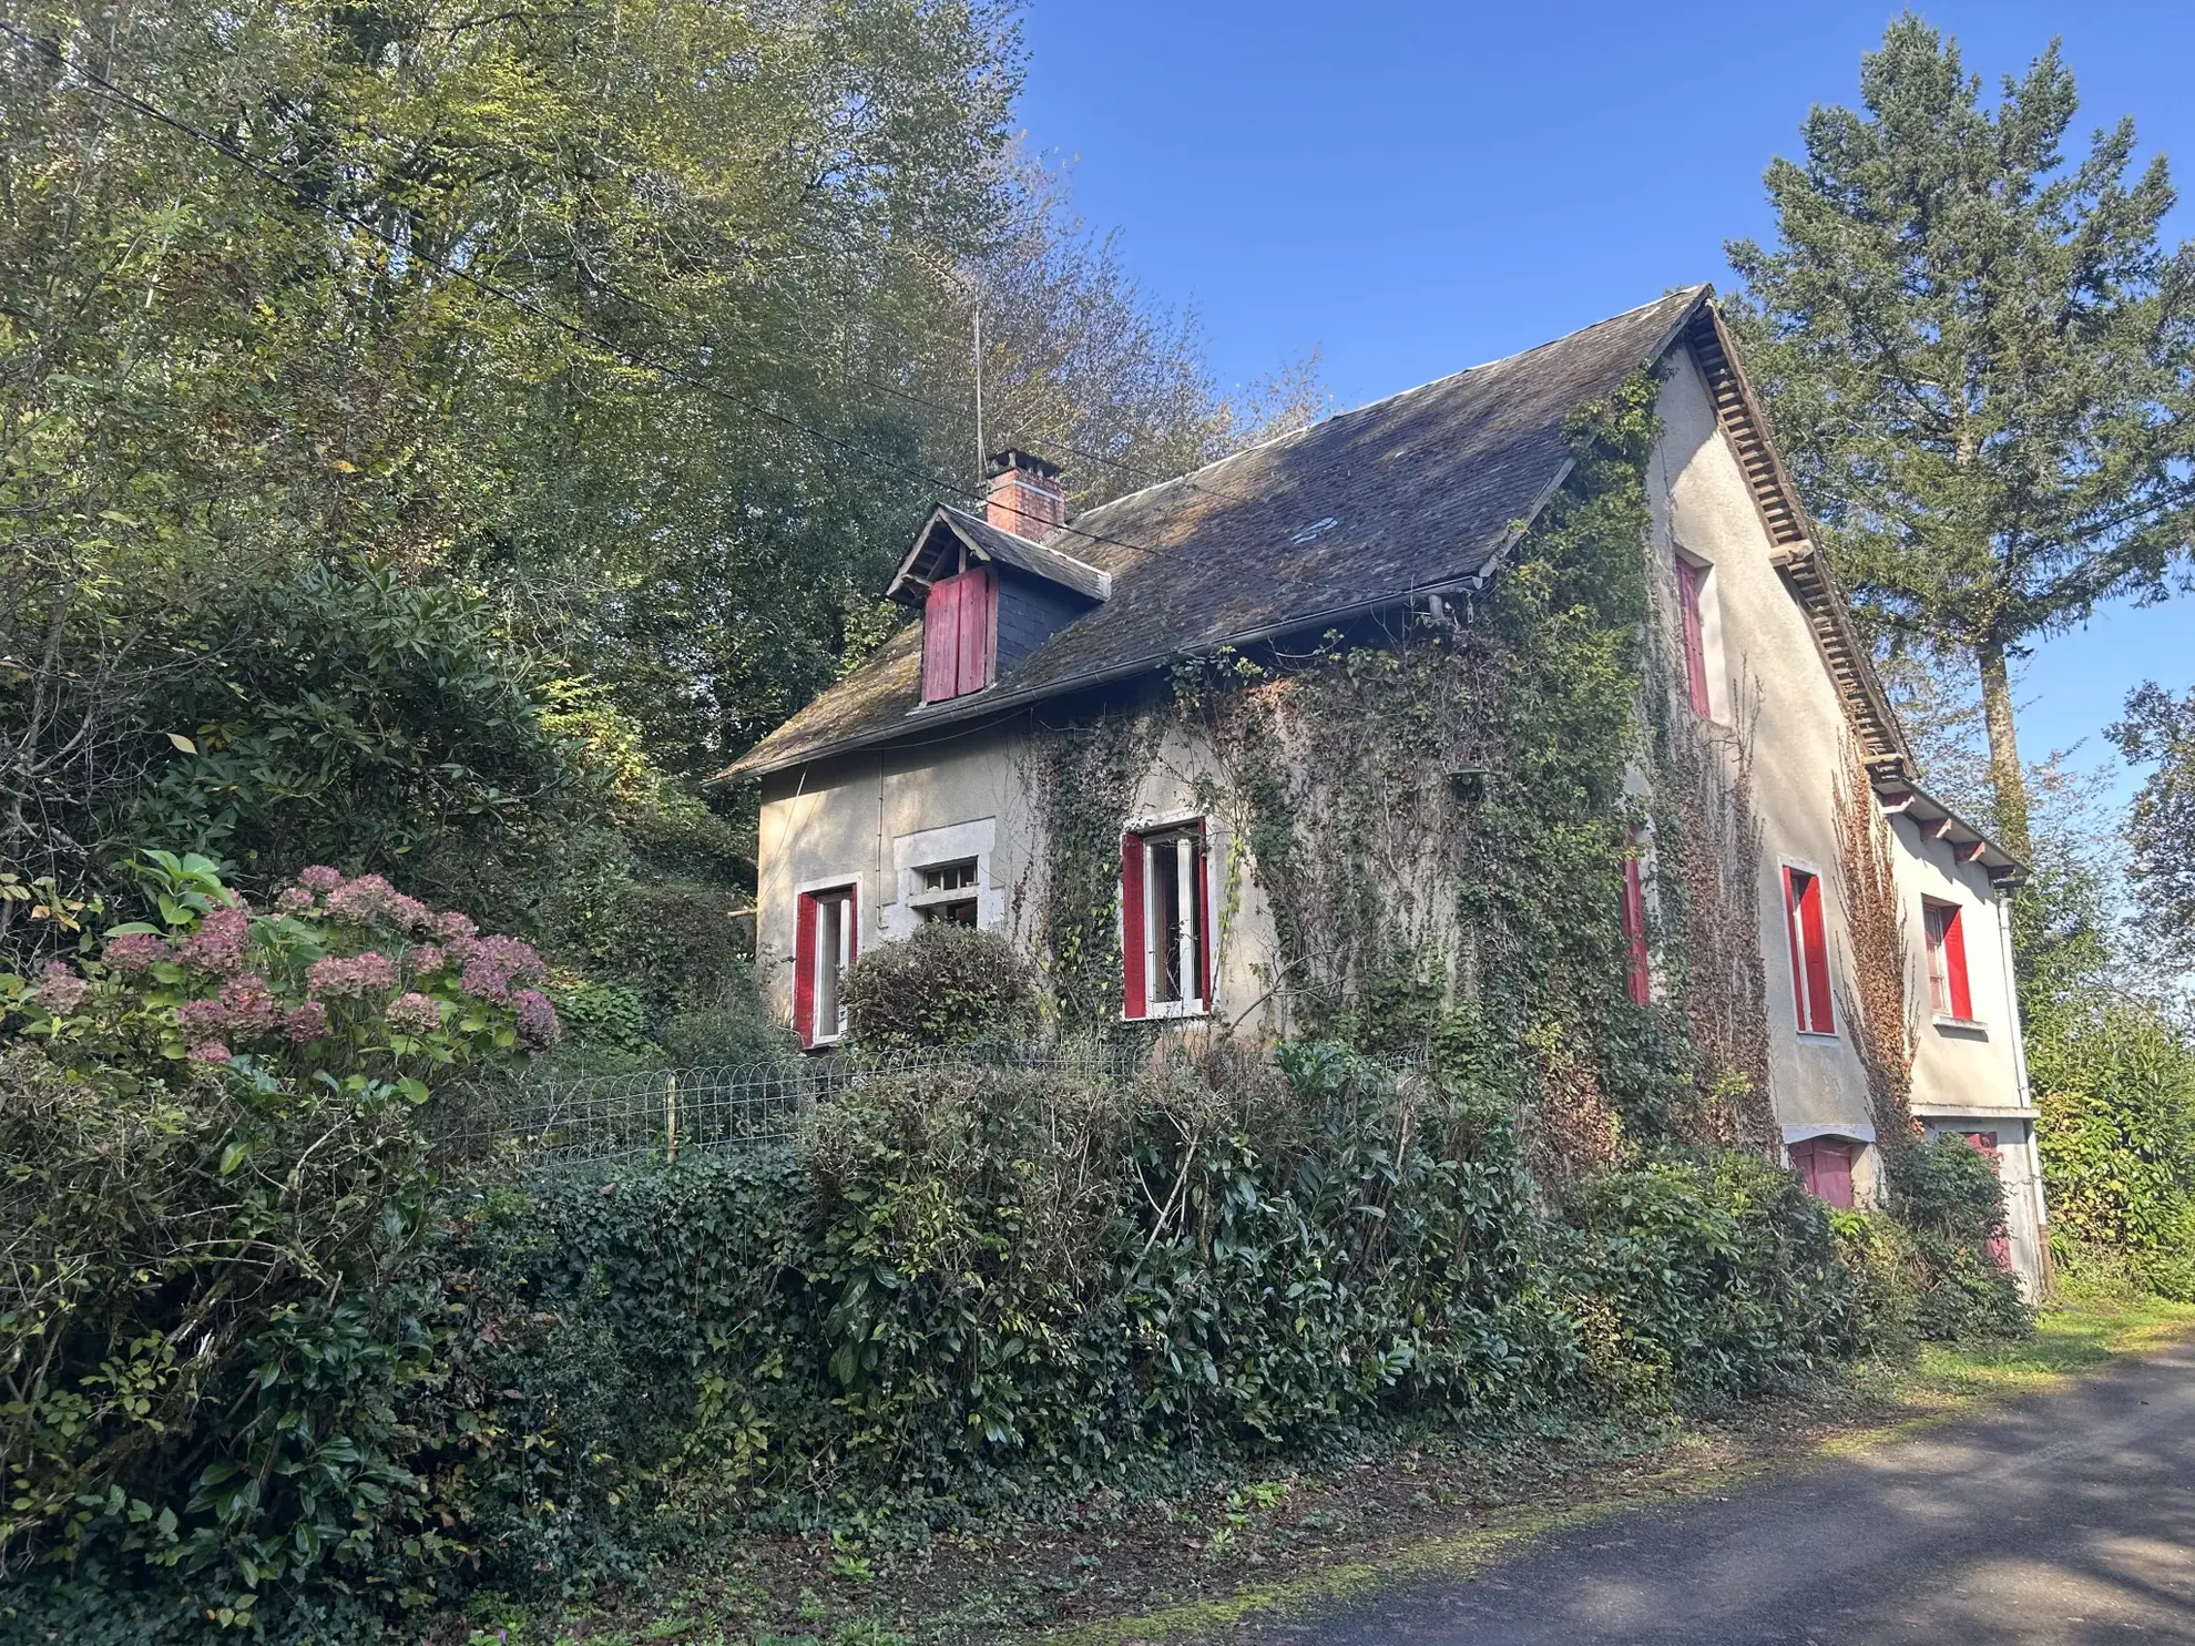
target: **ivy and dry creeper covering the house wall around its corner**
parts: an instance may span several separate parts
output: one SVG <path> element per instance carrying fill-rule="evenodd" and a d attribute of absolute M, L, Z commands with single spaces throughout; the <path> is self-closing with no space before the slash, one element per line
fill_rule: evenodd
<path fill-rule="evenodd" d="M 1464 1042 L 1552 1187 L 1624 1135 L 1771 1148 L 1745 746 L 1668 713 L 1648 579 L 1657 397 L 1640 371 L 1574 415 L 1569 476 L 1468 601 L 1299 654 L 1201 658 L 1163 702 L 1049 735 L 1065 1023 L 1117 1016 L 1119 825 L 1181 733 L 1231 838 L 1223 942 L 1245 880 L 1273 924 L 1262 1031 L 1381 1053 Z M 1642 830 L 1664 979 L 1644 1007 L 1622 931 Z"/>

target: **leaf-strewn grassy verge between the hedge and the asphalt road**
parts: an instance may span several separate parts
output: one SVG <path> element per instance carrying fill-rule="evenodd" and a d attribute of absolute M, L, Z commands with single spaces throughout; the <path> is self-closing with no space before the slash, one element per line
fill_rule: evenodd
<path fill-rule="evenodd" d="M 920 1552 L 753 1538 L 674 1582 L 579 1609 L 560 1646 L 1049 1646 L 1227 1642 L 1273 1617 L 1403 1578 L 1473 1576 L 1536 1538 L 1875 1451 L 1995 1402 L 2044 1394 L 2195 1332 L 2195 1306 L 2076 1290 L 2022 1343 L 1929 1348 L 1712 1420 L 1662 1420 L 1512 1444 L 1389 1448 L 1172 1501 L 939 1536 Z M 669 1574 L 665 1574 L 669 1576 Z M 518 1622 L 514 1617 L 511 1622 Z M 457 1637 L 459 1642 L 463 1635 Z M 494 1628 L 474 1635 L 494 1642 Z"/>

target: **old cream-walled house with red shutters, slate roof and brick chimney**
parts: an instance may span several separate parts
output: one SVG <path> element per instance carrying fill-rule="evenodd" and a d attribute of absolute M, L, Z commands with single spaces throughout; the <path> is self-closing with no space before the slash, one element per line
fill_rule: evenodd
<path fill-rule="evenodd" d="M 1468 819 L 1488 786 L 1521 781 L 1508 773 L 1521 762 L 1486 742 L 1510 687 L 1479 689 L 1457 663 L 1449 709 L 1411 731 L 1416 781 L 1409 762 L 1383 764 L 1394 740 L 1337 755 L 1332 735 L 1282 720 L 1245 733 L 1240 715 L 1183 713 L 1181 680 L 1242 676 L 1240 702 L 1269 702 L 1291 658 L 1337 645 L 1365 656 L 1431 634 L 1442 656 L 1495 656 L 1488 612 L 1521 575 L 1515 555 L 1574 505 L 1580 408 L 1642 382 L 1651 448 L 1629 472 L 1644 503 L 1611 518 L 1631 520 L 1624 555 L 1646 590 L 1624 650 L 1648 658 L 1642 680 L 1659 676 L 1624 713 L 1635 746 L 1662 753 L 1629 755 L 1602 805 L 1631 808 L 1629 836 L 1563 823 L 1567 841 L 1613 841 L 1605 865 L 1578 869 L 1620 876 L 1611 988 L 1640 1010 L 1688 990 L 1701 1034 L 1727 1029 L 1738 1073 L 1723 1084 L 1752 1091 L 1754 1141 L 1833 1203 L 1877 1192 L 1886 1124 L 1991 1150 L 2008 1258 L 2037 1277 L 2044 1205 L 2004 906 L 2022 865 L 1914 779 L 1703 285 L 1076 520 L 1058 467 L 994 459 L 981 509 L 939 505 L 887 590 L 920 621 L 727 773 L 762 788 L 757 963 L 777 1012 L 806 1045 L 832 1045 L 852 959 L 957 920 L 1010 933 L 1054 974 L 1080 968 L 1082 994 L 1122 1023 L 1286 1034 L 1313 988 L 1328 1001 L 1367 988 L 1374 950 L 1332 915 L 1352 898 L 1387 911 L 1394 952 L 1436 957 L 1418 970 L 1447 996 L 1501 983 L 1499 946 L 1444 887 L 1457 863 L 1508 849 Z M 1080 764 L 1062 764 L 1062 740 Z M 1302 777 L 1337 757 L 1337 777 Z M 1295 845 L 1227 799 L 1245 762 L 1262 762 L 1267 788 L 1297 786 Z M 1692 775 L 1670 777 L 1686 762 Z M 1378 803 L 1337 823 L 1317 783 L 1365 766 L 1389 773 Z M 1508 843 L 1536 834 L 1508 816 Z M 1357 832 L 1381 845 L 1328 884 L 1317 827 L 1350 836 L 1343 856 Z M 1677 836 L 1695 880 L 1716 887 L 1675 895 Z M 1706 904 L 1721 937 L 1701 926 Z M 1306 920 L 1330 931 L 1310 942 Z M 1662 950 L 1684 922 L 1677 966 Z M 1736 1027 L 1712 1029 L 1714 1012 Z"/>

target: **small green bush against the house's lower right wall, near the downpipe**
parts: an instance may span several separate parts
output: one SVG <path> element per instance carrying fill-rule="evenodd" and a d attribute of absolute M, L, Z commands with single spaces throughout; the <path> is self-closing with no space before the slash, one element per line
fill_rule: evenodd
<path fill-rule="evenodd" d="M 1936 1343 L 2026 1337 L 2019 1284 L 2000 1258 L 2004 1183 L 1997 1161 L 1962 1137 L 1936 1137 L 1883 1157 L 1888 1211 L 1914 1255 L 1914 1330 Z"/>

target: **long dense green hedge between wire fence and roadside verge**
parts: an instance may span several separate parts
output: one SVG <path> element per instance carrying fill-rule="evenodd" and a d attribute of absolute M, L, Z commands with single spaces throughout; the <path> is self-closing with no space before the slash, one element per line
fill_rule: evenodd
<path fill-rule="evenodd" d="M 1411 1413 L 1699 1405 L 1866 1328 L 1787 1174 L 1655 1161 L 1565 1227 L 1499 1102 L 1317 1045 L 1133 1086 L 878 1075 L 792 1152 L 542 1179 L 468 1229 L 452 1387 L 540 1435 L 470 1466 L 514 1582 L 727 1517 L 955 1517 Z"/>

